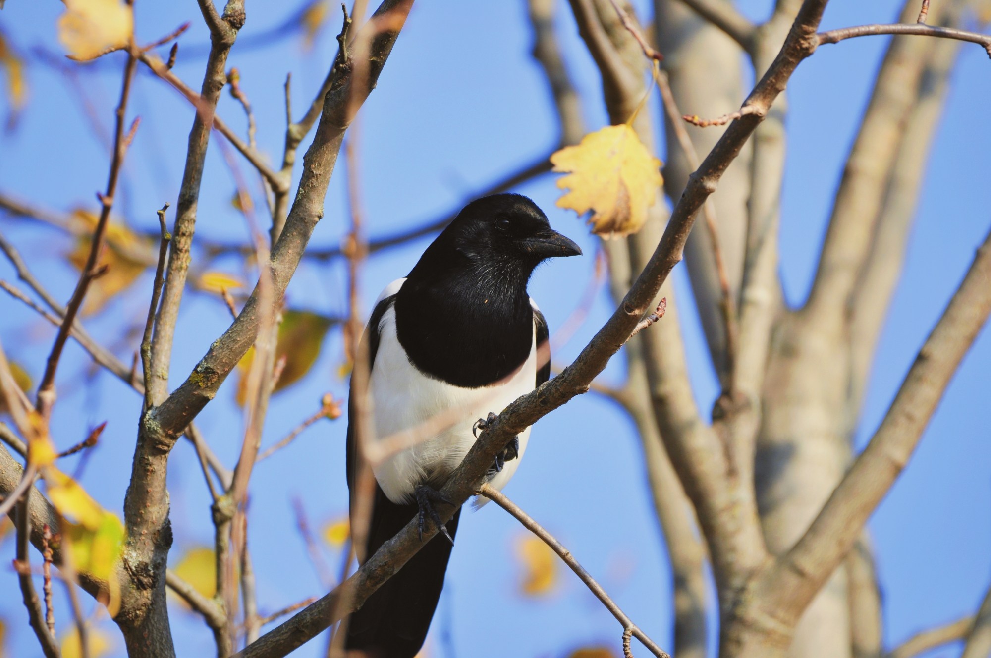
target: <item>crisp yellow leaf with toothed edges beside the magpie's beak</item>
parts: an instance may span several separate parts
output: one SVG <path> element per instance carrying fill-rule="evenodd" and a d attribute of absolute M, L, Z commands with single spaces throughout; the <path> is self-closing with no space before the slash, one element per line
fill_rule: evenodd
<path fill-rule="evenodd" d="M 559 188 L 571 190 L 557 200 L 558 207 L 579 215 L 594 210 L 592 232 L 605 237 L 639 231 L 663 182 L 661 161 L 625 124 L 586 135 L 578 146 L 551 156 L 551 163 L 555 171 L 571 172 L 557 181 Z"/>

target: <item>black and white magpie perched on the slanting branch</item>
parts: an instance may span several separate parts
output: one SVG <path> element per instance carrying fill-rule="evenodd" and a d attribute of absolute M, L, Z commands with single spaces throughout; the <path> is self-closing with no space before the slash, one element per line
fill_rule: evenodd
<path fill-rule="evenodd" d="M 410 519 L 431 518 L 428 540 L 348 620 L 345 647 L 369 658 L 413 658 L 426 639 L 444 586 L 461 508 L 446 525 L 438 490 L 476 441 L 478 429 L 550 378 L 547 321 L 527 293 L 547 259 L 581 248 L 551 229 L 526 196 L 494 194 L 466 205 L 404 278 L 376 301 L 362 341 L 373 436 L 383 438 L 447 414 L 454 422 L 373 465 L 376 487 L 366 559 Z M 355 522 L 358 448 L 354 378 L 348 404 L 347 481 Z M 476 418 L 478 420 L 476 420 Z M 486 420 L 483 420 L 486 419 Z M 501 490 L 526 451 L 530 428 L 495 457 L 487 480 Z M 479 499 L 477 505 L 486 500 Z"/>

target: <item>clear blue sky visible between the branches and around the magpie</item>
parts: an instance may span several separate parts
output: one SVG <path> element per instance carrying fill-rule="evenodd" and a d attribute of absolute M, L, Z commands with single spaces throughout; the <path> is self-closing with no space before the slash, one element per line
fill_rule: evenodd
<path fill-rule="evenodd" d="M 582 94 L 587 123 L 596 129 L 606 124 L 599 74 L 578 38 L 566 4 L 560 5 L 558 30 L 567 64 Z M 0 28 L 24 52 L 40 47 L 60 55 L 55 20 L 62 7 L 55 1 L 9 0 L 0 13 Z M 641 18 L 649 17 L 648 3 L 639 2 L 637 8 Z M 768 3 L 747 0 L 741 8 L 757 20 L 766 15 Z M 241 39 L 281 24 L 296 10 L 296 5 L 249 3 Z M 193 22 L 180 40 L 174 70 L 198 87 L 204 57 L 197 46 L 207 43 L 208 35 L 196 4 L 192 0 L 154 4 L 138 0 L 136 12 L 142 41 L 152 41 L 184 21 Z M 834 0 L 823 27 L 889 22 L 897 14 L 898 6 L 892 0 Z M 274 160 L 283 139 L 281 85 L 285 73 L 292 72 L 298 117 L 335 53 L 333 36 L 339 25 L 340 18 L 334 15 L 308 52 L 298 38 L 291 38 L 266 48 L 235 46 L 231 54 L 229 64 L 240 68 L 242 86 L 255 107 L 260 148 Z M 522 0 L 444 0 L 414 6 L 360 119 L 361 184 L 372 236 L 446 213 L 472 192 L 554 146 L 555 113 L 540 70 L 529 56 L 530 41 Z M 831 196 L 885 45 L 884 38 L 869 38 L 824 47 L 800 66 L 789 85 L 781 274 L 793 303 L 804 298 L 815 272 Z M 107 132 L 121 67 L 122 59 L 110 55 L 78 77 L 97 123 Z M 741 75 L 749 73 L 743 70 Z M 67 77 L 32 56 L 28 79 L 27 112 L 16 132 L 0 136 L 0 189 L 57 209 L 93 207 L 94 191 L 105 185 L 106 147 L 80 109 Z M 905 276 L 880 342 L 857 433 L 858 447 L 883 416 L 991 224 L 986 159 L 991 133 L 986 123 L 974 120 L 991 105 L 989 82 L 991 67 L 986 55 L 976 46 L 965 46 L 924 178 Z M 658 116 L 656 104 L 651 111 Z M 240 107 L 226 93 L 219 113 L 244 130 Z M 153 229 L 157 226 L 155 209 L 164 201 L 174 206 L 192 111 L 176 93 L 142 70 L 130 111 L 134 115 L 141 115 L 143 121 L 125 167 L 118 208 L 134 226 Z M 663 151 L 658 155 L 664 159 Z M 243 161 L 241 168 L 251 173 Z M 312 245 L 334 246 L 344 234 L 344 190 L 340 167 L 331 181 L 326 214 Z M 593 272 L 595 241 L 574 213 L 554 207 L 558 190 L 552 176 L 518 191 L 532 196 L 547 211 L 552 225 L 578 241 L 587 255 L 550 263 L 531 281 L 531 293 L 553 331 L 582 296 Z M 246 238 L 244 220 L 229 203 L 233 192 L 233 179 L 213 145 L 207 155 L 197 235 L 225 241 Z M 170 213 L 169 221 L 171 217 Z M 2 216 L 0 230 L 30 258 L 36 274 L 55 296 L 67 299 L 75 273 L 61 255 L 70 249 L 70 241 L 54 230 Z M 409 270 L 426 244 L 425 240 L 411 243 L 372 259 L 362 281 L 366 311 L 385 283 Z M 221 261 L 217 267 L 238 271 L 233 261 Z M 0 263 L 0 276 L 15 278 L 6 262 Z M 674 276 L 693 385 L 700 407 L 710 408 L 716 381 L 691 308 L 684 270 L 677 269 Z M 289 305 L 341 313 L 344 283 L 339 265 L 304 264 L 289 287 Z M 147 312 L 149 288 L 150 276 L 146 275 L 129 294 L 87 320 L 87 325 L 105 342 L 116 341 L 123 325 Z M 0 309 L 0 338 L 8 355 L 28 366 L 37 381 L 53 330 L 7 296 L 0 297 Z M 589 320 L 555 361 L 574 358 L 610 311 L 603 291 Z M 172 360 L 173 386 L 228 324 L 227 311 L 216 298 L 186 293 Z M 123 345 L 120 354 L 127 360 L 134 340 Z M 275 396 L 263 444 L 274 443 L 312 413 L 324 392 L 345 394 L 346 382 L 337 375 L 341 361 L 340 337 L 332 333 L 307 378 Z M 991 340 L 985 330 L 950 385 L 917 455 L 871 520 L 889 643 L 974 610 L 991 579 L 991 432 L 982 413 L 989 401 L 989 367 Z M 140 400 L 113 377 L 93 375 L 88 358 L 74 344 L 66 351 L 59 372 L 56 441 L 70 445 L 82 438 L 87 427 L 109 421 L 82 482 L 106 507 L 120 512 Z M 618 360 L 603 378 L 621 380 Z M 199 417 L 205 435 L 229 465 L 236 459 L 243 433 L 241 413 L 233 402 L 234 387 L 233 380 L 225 384 Z M 301 497 L 316 526 L 345 513 L 344 431 L 343 420 L 321 421 L 256 470 L 251 546 L 263 612 L 323 591 L 295 531 L 290 500 Z M 540 421 L 525 461 L 506 493 L 558 536 L 634 621 L 662 646 L 670 646 L 671 582 L 629 421 L 606 399 L 585 395 Z M 69 462 L 66 470 L 72 468 Z M 194 454 L 184 442 L 172 453 L 168 478 L 173 553 L 208 545 L 212 536 L 208 494 Z M 524 532 L 518 524 L 495 505 L 466 514 L 431 632 L 431 656 L 557 658 L 586 644 L 618 648 L 619 626 L 570 575 L 563 575 L 561 586 L 551 596 L 537 600 L 519 596 L 515 546 L 521 536 Z M 10 540 L 0 545 L 3 561 L 13 558 L 13 550 Z M 336 571 L 338 556 L 329 552 L 327 559 Z M 0 592 L 0 616 L 14 626 L 8 634 L 11 655 L 41 655 L 24 623 L 16 579 L 7 567 L 0 568 Z M 59 628 L 64 628 L 69 615 L 61 594 L 56 605 Z M 174 607 L 171 623 L 180 655 L 212 653 L 211 635 L 196 617 Z M 116 637 L 113 655 L 124 655 L 123 641 L 113 624 L 106 619 L 100 624 Z M 321 637 L 294 655 L 322 655 L 323 647 Z M 957 652 L 947 648 L 937 653 L 952 656 Z"/>

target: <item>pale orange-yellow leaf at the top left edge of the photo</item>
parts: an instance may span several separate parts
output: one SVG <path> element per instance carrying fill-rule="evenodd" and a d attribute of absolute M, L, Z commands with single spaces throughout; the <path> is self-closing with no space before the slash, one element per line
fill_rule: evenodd
<path fill-rule="evenodd" d="M 58 41 L 79 59 L 124 48 L 134 33 L 134 14 L 120 0 L 65 0 Z"/>

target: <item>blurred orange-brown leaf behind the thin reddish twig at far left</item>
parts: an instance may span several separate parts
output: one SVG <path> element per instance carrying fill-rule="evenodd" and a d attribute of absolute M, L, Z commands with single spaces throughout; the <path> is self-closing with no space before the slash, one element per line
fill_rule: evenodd
<path fill-rule="evenodd" d="M 67 258 L 76 270 L 82 272 L 92 247 L 92 232 L 96 229 L 99 218 L 79 209 L 72 213 L 72 217 L 80 225 L 80 232 L 75 249 Z M 150 240 L 137 235 L 123 224 L 110 222 L 107 225 L 106 247 L 97 267 L 107 266 L 108 269 L 106 274 L 90 283 L 82 308 L 84 315 L 99 312 L 114 295 L 126 290 L 141 273 L 157 263 L 157 257 L 152 256 L 151 244 Z"/>

